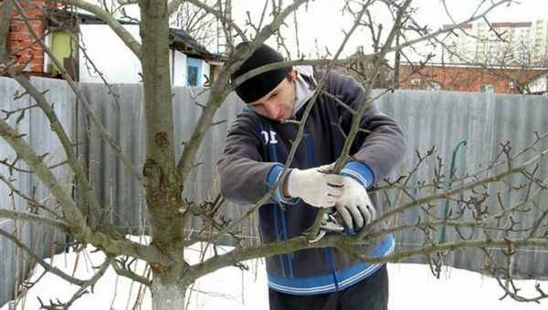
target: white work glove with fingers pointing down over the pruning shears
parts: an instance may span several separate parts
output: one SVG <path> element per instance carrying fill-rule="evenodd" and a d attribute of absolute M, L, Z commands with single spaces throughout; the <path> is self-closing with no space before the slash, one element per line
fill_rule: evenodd
<path fill-rule="evenodd" d="M 358 233 L 374 220 L 375 210 L 364 186 L 351 177 L 343 176 L 344 192 L 335 203 L 335 209 L 342 217 L 350 233 Z"/>

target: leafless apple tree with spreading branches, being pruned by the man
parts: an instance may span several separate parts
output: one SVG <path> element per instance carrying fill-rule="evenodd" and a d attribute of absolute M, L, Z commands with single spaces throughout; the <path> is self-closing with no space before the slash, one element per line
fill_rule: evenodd
<path fill-rule="evenodd" d="M 307 233 L 283 242 L 247 246 L 240 243 L 237 236 L 237 225 L 251 216 L 254 216 L 258 208 L 269 200 L 272 191 L 266 193 L 254 206 L 248 208 L 240 218 L 230 219 L 222 217 L 222 198 L 217 197 L 212 201 L 190 202 L 183 195 L 184 187 L 189 181 L 189 175 L 195 168 L 198 148 L 205 138 L 205 133 L 216 123 L 213 121 L 217 109 L 223 104 L 228 94 L 237 85 L 275 67 L 287 67 L 298 65 L 324 66 L 327 70 L 335 66 L 342 66 L 344 62 L 339 60 L 342 48 L 360 27 L 370 29 L 371 38 L 375 42 L 374 50 L 369 56 L 374 59 L 373 67 L 368 68 L 367 74 L 362 75 L 361 82 L 365 89 L 366 101 L 359 109 L 351 109 L 344 102 L 338 100 L 345 109 L 351 109 L 353 125 L 347 134 L 342 154 L 337 160 L 335 171 L 340 171 L 347 160 L 352 158 L 350 148 L 354 137 L 360 131 L 359 120 L 367 107 L 377 98 L 383 96 L 387 89 L 380 94 L 373 92 L 375 80 L 386 66 L 385 58 L 390 53 L 402 52 L 405 48 L 413 47 L 417 43 L 427 40 L 435 40 L 443 35 L 469 22 L 484 18 L 490 11 L 501 9 L 504 5 L 511 5 L 511 0 L 478 1 L 478 9 L 470 14 L 469 18 L 455 23 L 444 29 L 431 31 L 426 26 L 418 26 L 414 23 L 416 10 L 412 0 L 361 0 L 340 1 L 344 12 L 353 15 L 353 25 L 344 31 L 344 38 L 337 51 L 330 57 L 318 59 L 298 58 L 282 63 L 270 64 L 265 67 L 248 72 L 246 75 L 231 80 L 230 75 L 239 67 L 251 53 L 265 42 L 269 37 L 279 36 L 280 26 L 290 23 L 292 14 L 302 6 L 315 5 L 307 0 L 265 1 L 262 15 L 252 23 L 249 18 L 247 25 L 237 25 L 227 9 L 230 2 L 217 1 L 210 4 L 197 0 L 138 0 L 132 3 L 124 2 L 120 5 L 138 5 L 140 8 L 141 39 L 133 37 L 110 12 L 101 5 L 93 5 L 83 0 L 53 0 L 51 3 L 68 5 L 71 8 L 85 10 L 100 18 L 112 31 L 120 36 L 125 46 L 128 47 L 142 64 L 142 87 L 144 90 L 144 110 L 146 114 L 146 154 L 142 167 L 135 167 L 121 151 L 118 142 L 114 140 L 106 129 L 100 124 L 99 119 L 93 115 L 88 98 L 82 94 L 68 72 L 53 55 L 44 43 L 42 37 L 33 33 L 34 39 L 52 59 L 58 67 L 69 87 L 78 96 L 85 109 L 90 122 L 100 131 L 101 139 L 108 141 L 112 150 L 118 154 L 118 158 L 124 169 L 131 171 L 132 176 L 141 184 L 140 191 L 146 197 L 146 209 L 150 219 L 150 232 L 152 242 L 142 244 L 132 242 L 116 230 L 111 222 L 103 215 L 104 206 L 100 205 L 95 190 L 92 188 L 88 175 L 75 153 L 75 143 L 70 140 L 66 130 L 60 126 L 58 116 L 47 102 L 44 94 L 26 78 L 21 67 L 16 64 L 12 55 L 7 53 L 5 38 L 8 34 L 9 22 L 16 11 L 17 17 L 26 21 L 26 26 L 32 32 L 32 26 L 28 22 L 25 11 L 22 8 L 23 0 L 5 0 L 2 3 L 3 16 L 0 21 L 0 72 L 15 78 L 25 89 L 26 94 L 34 98 L 36 106 L 28 109 L 41 110 L 51 125 L 54 134 L 63 146 L 66 155 L 66 164 L 74 175 L 74 187 L 83 193 L 81 202 L 75 200 L 71 191 L 61 184 L 42 160 L 43 155 L 29 147 L 24 140 L 25 132 L 16 129 L 14 121 L 21 113 L 5 112 L 5 117 L 0 119 L 0 137 L 16 152 L 16 158 L 9 158 L 3 164 L 17 168 L 22 160 L 47 187 L 55 198 L 58 207 L 52 214 L 40 210 L 34 212 L 13 212 L 8 209 L 0 209 L 0 218 L 17 219 L 29 222 L 41 222 L 55 227 L 61 232 L 69 233 L 74 238 L 74 243 L 79 246 L 92 244 L 106 254 L 106 260 L 102 263 L 96 274 L 90 279 L 78 279 L 64 274 L 58 269 L 48 265 L 36 253 L 33 253 L 25 243 L 18 240 L 11 232 L 0 231 L 0 235 L 16 243 L 18 247 L 31 255 L 37 263 L 45 267 L 47 272 L 57 274 L 71 284 L 80 286 L 79 291 L 68 301 L 50 302 L 43 304 L 45 309 L 66 309 L 97 283 L 107 268 L 112 266 L 121 276 L 129 277 L 133 281 L 147 285 L 153 293 L 153 308 L 160 309 L 184 309 L 184 295 L 189 285 L 196 279 L 210 274 L 216 270 L 237 265 L 238 263 L 259 257 L 267 257 L 281 253 L 290 253 L 300 249 L 337 247 L 346 251 L 353 257 L 367 263 L 396 262 L 405 258 L 426 255 L 432 265 L 433 271 L 438 273 L 439 266 L 444 263 L 444 258 L 458 249 L 475 248 L 483 251 L 486 259 L 485 270 L 499 279 L 505 294 L 518 300 L 538 300 L 545 297 L 541 288 L 538 288 L 538 296 L 525 298 L 519 294 L 519 288 L 512 284 L 511 266 L 517 249 L 523 247 L 548 247 L 546 235 L 546 214 L 548 207 L 543 205 L 538 198 L 547 189 L 548 183 L 544 179 L 542 170 L 547 149 L 542 148 L 546 135 L 538 134 L 532 144 L 524 150 L 512 150 L 510 144 L 501 145 L 499 156 L 487 163 L 481 171 L 469 172 L 460 176 L 457 180 L 449 178 L 440 172 L 441 160 L 437 158 L 435 150 L 426 153 L 417 152 L 418 163 L 406 175 L 395 180 L 385 180 L 374 189 L 378 194 L 385 196 L 387 211 L 367 226 L 361 233 L 354 236 L 342 234 L 330 234 L 317 243 L 310 240 L 318 233 L 321 213 L 317 221 Z M 183 5 L 183 6 L 182 6 Z M 382 6 L 386 12 L 392 15 L 391 22 L 375 21 L 371 14 L 374 6 Z M 104 6 L 104 5 L 103 5 Z M 174 140 L 174 115 L 172 110 L 173 88 L 169 72 L 169 26 L 170 18 L 180 12 L 179 10 L 192 7 L 193 12 L 200 18 L 215 20 L 223 27 L 223 32 L 230 37 L 227 40 L 227 58 L 215 82 L 207 89 L 206 103 L 201 105 L 201 114 L 196 122 L 190 139 L 184 140 L 184 150 L 179 158 L 175 157 L 175 144 L 182 141 Z M 229 8 L 229 7 L 228 7 Z M 296 19 L 296 18 L 295 18 Z M 192 21 L 189 21 L 190 23 Z M 250 30 L 251 29 L 251 30 Z M 234 42 L 251 41 L 246 47 L 234 48 Z M 397 40 L 396 40 L 397 38 Z M 280 47 L 284 46 L 283 40 L 278 40 Z M 397 43 L 396 43 L 397 42 Z M 289 48 L 289 47 L 288 47 Z M 353 68 L 355 69 L 355 68 Z M 322 88 L 324 79 L 319 80 L 319 85 L 314 96 L 330 96 Z M 298 122 L 299 136 L 293 141 L 290 158 L 285 163 L 284 174 L 287 174 L 290 162 L 295 154 L 296 146 L 303 136 L 303 126 L 313 108 L 314 100 L 307 105 L 303 119 Z M 194 104 L 194 103 L 190 103 Z M 525 158 L 526 160 L 521 160 Z M 428 168 L 429 167 L 429 168 Z M 432 176 L 429 180 L 411 182 L 416 171 L 429 170 Z M 281 178 L 280 178 L 281 179 Z M 26 197 L 17 191 L 16 186 L 10 182 L 9 176 L 2 176 L 2 180 L 8 184 L 12 194 L 20 196 L 29 206 L 35 205 L 31 197 Z M 458 186 L 451 188 L 448 184 L 458 182 Z M 491 187 L 491 184 L 501 184 L 501 187 Z M 498 204 L 490 204 L 489 197 L 501 196 L 502 191 L 516 191 L 522 195 L 522 202 L 515 205 L 506 205 L 501 199 Z M 393 199 L 395 198 L 395 199 Z M 440 217 L 437 212 L 437 204 L 440 201 L 450 200 L 456 206 Z M 84 204 L 84 214 L 81 208 Z M 4 207 L 4 206 L 3 206 Z M 532 227 L 519 227 L 516 219 L 523 212 L 541 211 L 542 216 Z M 33 212 L 31 212 L 33 211 Z M 416 222 L 397 221 L 399 214 L 403 212 L 418 212 Z M 183 227 L 193 217 L 200 217 L 206 223 L 205 233 L 184 233 Z M 388 228 L 376 232 L 374 230 L 381 222 L 388 222 Z M 458 233 L 458 240 L 439 242 L 437 232 L 445 227 Z M 352 244 L 372 243 L 376 238 L 386 233 L 406 233 L 419 230 L 424 233 L 426 242 L 412 250 L 396 250 L 395 253 L 380 258 L 366 257 L 362 253 L 353 250 Z M 372 233 L 374 232 L 375 233 Z M 470 233 L 471 232 L 471 233 Z M 190 264 L 184 260 L 185 248 L 197 242 L 205 242 L 211 246 L 219 245 L 222 236 L 231 236 L 235 239 L 237 247 L 229 253 L 217 253 L 201 263 Z M 502 249 L 504 255 L 496 256 L 494 251 Z M 502 259 L 501 259 L 502 257 Z M 140 259 L 149 264 L 152 274 L 142 276 L 132 270 L 133 259 Z"/>

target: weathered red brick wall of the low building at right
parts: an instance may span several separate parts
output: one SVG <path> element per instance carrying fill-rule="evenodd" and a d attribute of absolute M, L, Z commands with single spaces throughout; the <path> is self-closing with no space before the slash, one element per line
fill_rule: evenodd
<path fill-rule="evenodd" d="M 511 88 L 512 79 L 526 83 L 542 73 L 532 69 L 450 66 L 426 66 L 414 72 L 411 66 L 402 65 L 400 88 L 430 89 L 437 83 L 440 90 L 479 91 L 481 85 L 491 85 L 496 93 L 518 93 L 518 88 Z"/>

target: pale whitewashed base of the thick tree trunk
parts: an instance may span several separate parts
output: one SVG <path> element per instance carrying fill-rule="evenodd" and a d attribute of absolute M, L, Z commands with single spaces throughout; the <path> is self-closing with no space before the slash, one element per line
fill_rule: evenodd
<path fill-rule="evenodd" d="M 153 310 L 184 310 L 184 292 L 186 286 L 154 276 L 151 287 Z"/>

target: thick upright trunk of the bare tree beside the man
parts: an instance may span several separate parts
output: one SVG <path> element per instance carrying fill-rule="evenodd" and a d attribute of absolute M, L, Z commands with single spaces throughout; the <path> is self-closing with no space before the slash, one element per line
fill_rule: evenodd
<path fill-rule="evenodd" d="M 174 265 L 152 263 L 153 310 L 183 310 L 183 184 L 174 159 L 174 119 L 169 65 L 167 0 L 141 0 L 141 63 L 146 114 L 146 203 L 153 245 Z"/>

